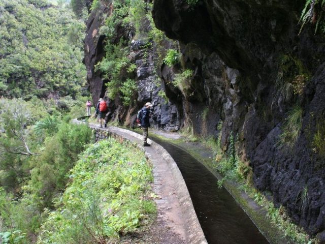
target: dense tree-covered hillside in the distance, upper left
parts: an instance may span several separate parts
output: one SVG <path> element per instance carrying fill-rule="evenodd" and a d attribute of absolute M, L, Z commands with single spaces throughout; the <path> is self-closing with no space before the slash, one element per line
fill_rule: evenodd
<path fill-rule="evenodd" d="M 85 25 L 71 10 L 47 1 L 3 0 L 0 23 L 0 96 L 81 93 Z"/>

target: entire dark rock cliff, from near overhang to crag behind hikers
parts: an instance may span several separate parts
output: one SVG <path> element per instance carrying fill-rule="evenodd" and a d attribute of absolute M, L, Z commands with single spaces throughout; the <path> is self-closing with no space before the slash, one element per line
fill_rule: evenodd
<path fill-rule="evenodd" d="M 298 35 L 304 5 L 155 0 L 155 25 L 178 40 L 163 47 L 177 48 L 180 63 L 157 63 L 155 45 L 148 48 L 147 41 L 129 35 L 137 103 L 125 107 L 115 99 L 111 104 L 113 119 L 129 126 L 147 101 L 155 105 L 153 125 L 165 130 L 187 126 L 195 134 L 216 137 L 222 121 L 221 144 L 226 147 L 230 134 L 236 135 L 255 187 L 283 205 L 308 233 L 317 234 L 325 231 L 325 39 L 310 26 Z M 94 101 L 106 92 L 94 65 L 105 56 L 105 36 L 98 30 L 109 11 L 93 12 L 87 22 L 85 64 Z M 185 88 L 175 87 L 175 75 L 185 69 L 192 77 Z"/>

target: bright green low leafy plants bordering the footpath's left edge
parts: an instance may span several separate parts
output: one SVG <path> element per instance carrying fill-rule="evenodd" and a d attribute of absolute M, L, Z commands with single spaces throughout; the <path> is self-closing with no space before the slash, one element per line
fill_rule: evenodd
<path fill-rule="evenodd" d="M 57 210 L 48 211 L 38 243 L 111 243 L 156 213 L 144 154 L 115 139 L 90 146 L 71 171 Z"/>

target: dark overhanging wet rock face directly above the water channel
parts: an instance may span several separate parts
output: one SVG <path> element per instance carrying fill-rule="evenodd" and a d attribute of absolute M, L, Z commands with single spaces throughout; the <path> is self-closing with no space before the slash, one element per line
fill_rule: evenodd
<path fill-rule="evenodd" d="M 237 135 L 255 186 L 270 192 L 308 233 L 323 236 L 325 158 L 314 138 L 325 119 L 325 58 L 320 54 L 325 43 L 310 27 L 297 35 L 304 5 L 205 0 L 190 7 L 182 0 L 155 0 L 152 15 L 159 29 L 181 42 L 183 65 L 194 71 L 191 97 L 168 85 L 173 70 L 163 67 L 161 72 L 166 94 L 182 106 L 185 123 L 198 134 L 215 136 L 222 119 L 221 144 L 227 145 L 232 131 Z M 282 54 L 300 60 L 313 75 L 298 99 L 302 130 L 293 147 L 280 143 L 287 112 L 295 104 L 277 96 L 274 77 Z"/>

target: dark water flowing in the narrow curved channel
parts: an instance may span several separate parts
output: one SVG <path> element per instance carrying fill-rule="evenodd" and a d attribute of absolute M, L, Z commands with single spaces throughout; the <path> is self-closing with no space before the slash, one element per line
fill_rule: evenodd
<path fill-rule="evenodd" d="M 208 243 L 269 243 L 234 198 L 224 188 L 217 187 L 217 178 L 203 164 L 175 145 L 152 139 L 178 165 Z"/>

